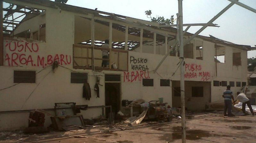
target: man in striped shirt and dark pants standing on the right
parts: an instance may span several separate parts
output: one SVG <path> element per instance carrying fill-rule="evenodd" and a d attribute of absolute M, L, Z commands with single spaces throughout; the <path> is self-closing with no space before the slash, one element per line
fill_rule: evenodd
<path fill-rule="evenodd" d="M 230 90 L 230 85 L 227 86 L 227 89 L 224 90 L 222 97 L 224 98 L 224 116 L 227 116 L 227 110 L 228 110 L 228 116 L 234 116 L 231 112 L 232 109 L 232 101 L 231 99 L 234 100 L 233 97 L 233 92 Z"/>

